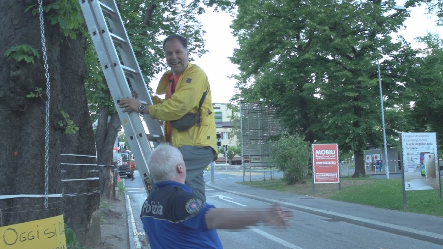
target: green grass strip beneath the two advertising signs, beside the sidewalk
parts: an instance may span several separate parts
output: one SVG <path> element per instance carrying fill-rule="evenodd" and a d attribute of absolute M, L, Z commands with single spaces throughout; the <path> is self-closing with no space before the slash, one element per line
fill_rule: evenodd
<path fill-rule="evenodd" d="M 286 185 L 282 179 L 240 182 L 240 184 L 273 191 L 312 196 L 312 179 L 307 183 Z M 341 178 L 338 183 L 315 184 L 316 197 L 329 198 L 342 202 L 359 203 L 368 206 L 431 214 L 443 217 L 443 199 L 438 190 L 406 191 L 407 210 L 403 210 L 403 192 L 400 179 Z"/>

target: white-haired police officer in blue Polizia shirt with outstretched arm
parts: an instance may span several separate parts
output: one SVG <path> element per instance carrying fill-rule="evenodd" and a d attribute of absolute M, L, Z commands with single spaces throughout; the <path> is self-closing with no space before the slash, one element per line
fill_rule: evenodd
<path fill-rule="evenodd" d="M 184 185 L 186 165 L 179 149 L 161 144 L 148 159 L 157 189 L 143 204 L 140 218 L 152 249 L 223 248 L 217 229 L 237 230 L 258 224 L 290 225 L 292 212 L 280 206 L 219 208 L 202 201 Z"/>

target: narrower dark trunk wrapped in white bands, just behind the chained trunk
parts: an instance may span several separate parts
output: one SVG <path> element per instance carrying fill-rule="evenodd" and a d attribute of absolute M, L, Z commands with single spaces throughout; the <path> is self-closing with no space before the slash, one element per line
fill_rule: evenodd
<path fill-rule="evenodd" d="M 85 37 L 64 38 L 60 50 L 62 75 L 62 110 L 79 128 L 75 134 L 64 134 L 60 140 L 62 154 L 85 156 L 61 156 L 62 163 L 95 164 L 62 165 L 65 222 L 74 230 L 82 245 L 94 246 L 101 243 L 100 192 L 95 140 L 89 117 L 84 78 Z M 94 179 L 97 178 L 97 179 Z M 88 179 L 88 180 L 86 180 Z M 71 195 L 69 195 L 71 194 Z M 77 194 L 77 195 L 72 195 Z"/>

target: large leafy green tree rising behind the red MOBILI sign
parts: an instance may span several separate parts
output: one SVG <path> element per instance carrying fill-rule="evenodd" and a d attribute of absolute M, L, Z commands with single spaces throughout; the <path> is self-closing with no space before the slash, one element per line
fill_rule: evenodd
<path fill-rule="evenodd" d="M 232 27 L 240 48 L 232 61 L 242 97 L 279 107 L 291 132 L 311 143 L 353 151 L 354 177 L 365 175 L 366 144 L 382 144 L 377 60 L 384 58 L 383 92 L 393 107 L 408 80 L 399 60 L 415 58 L 408 43 L 389 36 L 408 12 L 380 0 L 238 4 Z"/>

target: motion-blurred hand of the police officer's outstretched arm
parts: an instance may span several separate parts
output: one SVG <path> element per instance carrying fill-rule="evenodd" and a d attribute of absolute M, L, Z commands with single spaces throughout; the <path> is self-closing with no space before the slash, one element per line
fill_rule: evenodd
<path fill-rule="evenodd" d="M 293 216 L 292 210 L 284 209 L 276 204 L 263 210 L 261 220 L 265 225 L 273 226 L 276 229 L 284 229 L 291 225 L 290 218 Z"/>

